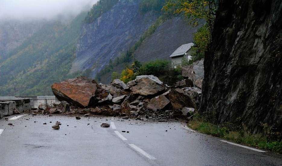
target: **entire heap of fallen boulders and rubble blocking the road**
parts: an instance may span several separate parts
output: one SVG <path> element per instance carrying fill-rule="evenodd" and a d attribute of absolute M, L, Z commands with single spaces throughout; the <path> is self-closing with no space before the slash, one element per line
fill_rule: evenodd
<path fill-rule="evenodd" d="M 40 105 L 31 111 L 33 114 L 96 114 L 158 121 L 190 119 L 200 107 L 204 77 L 203 60 L 194 63 L 182 69 L 187 79 L 171 87 L 154 75 L 140 75 L 127 84 L 115 79 L 109 85 L 86 77 L 67 79 L 51 86 L 60 104 Z"/>

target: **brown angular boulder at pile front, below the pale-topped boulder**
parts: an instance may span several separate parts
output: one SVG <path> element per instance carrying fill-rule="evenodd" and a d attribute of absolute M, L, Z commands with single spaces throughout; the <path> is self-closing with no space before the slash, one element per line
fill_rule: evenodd
<path fill-rule="evenodd" d="M 152 98 L 148 103 L 147 108 L 150 110 L 161 110 L 169 103 L 170 101 L 164 95 L 160 95 Z"/>

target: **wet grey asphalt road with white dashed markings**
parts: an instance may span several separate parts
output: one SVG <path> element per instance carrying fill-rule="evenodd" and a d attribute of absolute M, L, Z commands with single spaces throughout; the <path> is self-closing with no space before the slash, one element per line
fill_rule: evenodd
<path fill-rule="evenodd" d="M 57 120 L 62 125 L 53 130 Z M 102 116 L 76 120 L 62 115 L 1 119 L 0 165 L 282 165 L 281 155 L 223 143 L 188 131 L 185 123 L 178 121 L 121 120 Z M 116 129 L 113 125 L 100 127 L 111 122 Z"/>

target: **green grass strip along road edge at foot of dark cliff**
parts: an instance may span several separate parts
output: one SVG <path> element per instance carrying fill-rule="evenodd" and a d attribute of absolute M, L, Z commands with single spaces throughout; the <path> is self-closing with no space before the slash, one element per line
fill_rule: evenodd
<path fill-rule="evenodd" d="M 269 140 L 268 137 L 263 134 L 250 134 L 243 130 L 230 131 L 227 127 L 221 127 L 199 120 L 190 121 L 188 126 L 208 135 L 282 154 L 282 141 Z"/>

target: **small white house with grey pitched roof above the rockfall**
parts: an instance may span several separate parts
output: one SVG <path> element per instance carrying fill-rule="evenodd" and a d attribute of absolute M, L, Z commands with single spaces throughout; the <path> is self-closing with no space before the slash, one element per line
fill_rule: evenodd
<path fill-rule="evenodd" d="M 183 57 L 188 60 L 192 59 L 192 46 L 194 46 L 194 43 L 183 44 L 170 55 L 173 68 L 176 68 L 177 65 L 181 65 Z"/>

